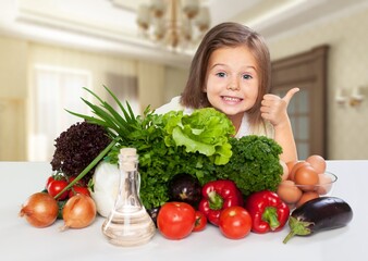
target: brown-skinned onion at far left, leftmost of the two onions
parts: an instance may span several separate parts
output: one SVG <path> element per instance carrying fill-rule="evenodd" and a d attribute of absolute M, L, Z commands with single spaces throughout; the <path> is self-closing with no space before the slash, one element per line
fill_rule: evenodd
<path fill-rule="evenodd" d="M 47 227 L 58 217 L 59 207 L 57 200 L 46 192 L 36 192 L 22 204 L 20 216 L 35 227 Z"/>

